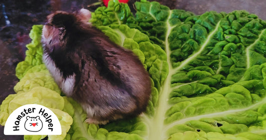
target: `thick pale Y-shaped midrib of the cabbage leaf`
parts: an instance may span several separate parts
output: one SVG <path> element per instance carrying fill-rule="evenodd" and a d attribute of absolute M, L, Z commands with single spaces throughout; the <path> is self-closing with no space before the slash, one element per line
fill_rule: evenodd
<path fill-rule="evenodd" d="M 169 94 L 170 94 L 171 90 L 173 89 L 173 87 L 171 87 L 171 76 L 174 73 L 176 73 L 177 71 L 181 70 L 182 67 L 187 65 L 195 57 L 197 57 L 198 55 L 201 54 L 201 52 L 208 45 L 209 40 L 218 31 L 218 27 L 220 26 L 220 21 L 219 21 L 217 23 L 215 29 L 212 32 L 210 32 L 210 34 L 208 35 L 208 37 L 205 40 L 205 42 L 201 45 L 201 48 L 196 53 L 193 53 L 192 55 L 190 55 L 189 58 L 187 58 L 186 60 L 182 61 L 181 64 L 178 67 L 173 68 L 172 65 L 171 65 L 171 57 L 170 57 L 171 50 L 170 50 L 169 41 L 168 41 L 168 37 L 169 37 L 171 31 L 175 27 L 175 26 L 171 26 L 171 24 L 169 22 L 169 19 L 171 17 L 171 13 L 172 13 L 172 10 L 169 11 L 168 19 L 166 21 L 167 32 L 166 32 L 166 38 L 165 38 L 165 41 L 164 41 L 165 42 L 165 52 L 166 52 L 166 55 L 167 55 L 169 73 L 168 73 L 168 75 L 167 75 L 167 77 L 166 77 L 166 79 L 164 81 L 164 84 L 161 86 L 161 90 L 160 90 L 160 93 L 159 93 L 158 107 L 155 108 L 155 114 L 154 114 L 153 118 L 150 118 L 152 120 L 149 121 L 150 123 L 148 124 L 148 126 L 149 126 L 148 139 L 167 139 L 168 138 L 168 135 L 167 135 L 166 131 L 170 127 L 169 127 L 169 125 L 165 125 L 164 124 L 164 120 L 165 120 L 165 113 L 166 113 L 167 109 L 170 106 L 168 104 Z M 147 120 L 147 117 L 146 117 L 146 120 Z"/>

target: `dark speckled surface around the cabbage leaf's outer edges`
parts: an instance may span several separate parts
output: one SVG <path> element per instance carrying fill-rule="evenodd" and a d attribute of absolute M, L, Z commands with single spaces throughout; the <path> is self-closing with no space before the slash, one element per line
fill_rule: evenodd
<path fill-rule="evenodd" d="M 28 33 L 33 24 L 43 24 L 46 16 L 55 10 L 74 11 L 98 0 L 0 0 L 0 103 L 13 91 L 18 82 L 15 76 L 15 67 L 24 60 L 25 44 L 30 42 Z M 129 0 L 133 9 L 136 0 Z M 167 5 L 171 9 L 184 9 L 195 14 L 215 10 L 231 12 L 245 9 L 255 13 L 259 18 L 266 19 L 265 0 L 155 0 Z M 6 16 L 10 21 L 6 25 L 3 5 Z M 88 9 L 94 11 L 97 6 Z M 22 135 L 4 135 L 3 126 L 0 126 L 1 139 L 23 139 Z"/>

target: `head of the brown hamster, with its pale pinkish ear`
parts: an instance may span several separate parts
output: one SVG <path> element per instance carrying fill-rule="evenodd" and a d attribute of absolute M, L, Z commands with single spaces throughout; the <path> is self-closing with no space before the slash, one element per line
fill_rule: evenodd
<path fill-rule="evenodd" d="M 63 47 L 69 39 L 69 34 L 83 24 L 90 24 L 90 11 L 80 9 L 75 13 L 56 11 L 47 16 L 47 22 L 42 29 L 43 46 L 51 52 L 55 47 Z"/>

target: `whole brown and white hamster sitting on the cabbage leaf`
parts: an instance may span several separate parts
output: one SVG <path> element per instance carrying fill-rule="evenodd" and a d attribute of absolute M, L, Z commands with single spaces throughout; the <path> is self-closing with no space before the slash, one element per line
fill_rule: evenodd
<path fill-rule="evenodd" d="M 151 80 L 132 51 L 112 42 L 88 20 L 90 12 L 56 11 L 43 26 L 43 62 L 61 90 L 105 124 L 145 111 Z"/>

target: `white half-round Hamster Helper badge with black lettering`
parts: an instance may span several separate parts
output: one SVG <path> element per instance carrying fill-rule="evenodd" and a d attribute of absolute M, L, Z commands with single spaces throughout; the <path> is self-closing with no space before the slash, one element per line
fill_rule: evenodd
<path fill-rule="evenodd" d="M 5 135 L 59 135 L 61 125 L 56 115 L 39 104 L 26 104 L 16 108 L 7 118 Z"/>

